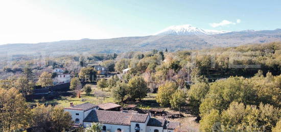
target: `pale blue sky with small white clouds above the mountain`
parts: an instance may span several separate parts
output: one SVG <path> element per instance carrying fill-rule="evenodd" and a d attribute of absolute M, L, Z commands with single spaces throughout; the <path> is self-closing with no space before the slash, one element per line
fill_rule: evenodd
<path fill-rule="evenodd" d="M 0 44 L 146 36 L 171 25 L 281 28 L 280 1 L 0 1 Z"/>

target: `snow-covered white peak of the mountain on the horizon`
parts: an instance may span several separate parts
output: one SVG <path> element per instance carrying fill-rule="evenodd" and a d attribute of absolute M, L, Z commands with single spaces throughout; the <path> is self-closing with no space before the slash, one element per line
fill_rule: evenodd
<path fill-rule="evenodd" d="M 213 35 L 223 33 L 228 33 L 228 31 L 203 30 L 200 28 L 192 27 L 189 24 L 185 24 L 173 25 L 156 33 L 155 35 Z"/>

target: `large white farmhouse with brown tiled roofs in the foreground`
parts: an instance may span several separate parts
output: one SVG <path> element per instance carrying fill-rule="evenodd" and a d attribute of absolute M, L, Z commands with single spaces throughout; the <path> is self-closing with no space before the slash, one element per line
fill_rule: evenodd
<path fill-rule="evenodd" d="M 64 111 L 71 113 L 76 125 L 88 127 L 93 122 L 102 124 L 102 131 L 110 132 L 174 132 L 180 123 L 166 119 L 151 118 L 149 114 L 138 114 L 135 111 L 104 111 L 97 105 L 83 103 Z"/>

